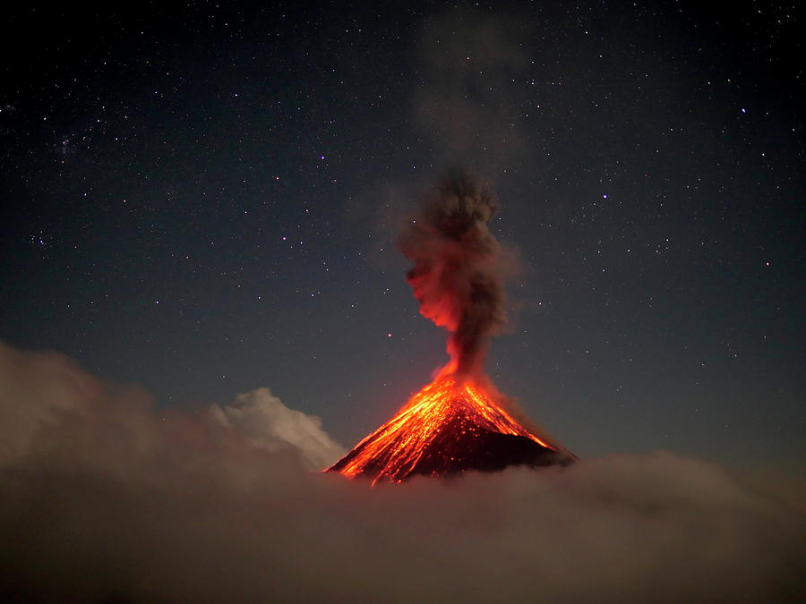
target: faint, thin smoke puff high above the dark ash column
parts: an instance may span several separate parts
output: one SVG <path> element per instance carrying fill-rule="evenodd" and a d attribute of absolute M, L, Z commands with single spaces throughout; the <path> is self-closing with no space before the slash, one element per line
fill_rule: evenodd
<path fill-rule="evenodd" d="M 496 173 L 525 159 L 520 124 L 529 103 L 511 83 L 529 65 L 533 25 L 501 6 L 452 7 L 424 22 L 416 44 L 422 83 L 413 122 L 437 161 Z"/>

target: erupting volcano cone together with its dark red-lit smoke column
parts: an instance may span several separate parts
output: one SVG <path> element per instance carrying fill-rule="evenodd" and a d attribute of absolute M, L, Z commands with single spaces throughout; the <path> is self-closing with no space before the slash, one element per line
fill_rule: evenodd
<path fill-rule="evenodd" d="M 487 228 L 496 210 L 463 173 L 426 198 L 399 247 L 415 263 L 407 280 L 420 313 L 450 331 L 450 363 L 328 472 L 374 484 L 575 459 L 517 421 L 482 370 L 490 336 L 506 319 L 501 247 Z"/>

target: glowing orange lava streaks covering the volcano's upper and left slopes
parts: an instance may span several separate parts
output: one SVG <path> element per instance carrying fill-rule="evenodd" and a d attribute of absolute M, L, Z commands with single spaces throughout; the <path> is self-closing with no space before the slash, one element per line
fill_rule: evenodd
<path fill-rule="evenodd" d="M 438 444 L 435 438 L 444 439 L 446 433 L 454 441 L 491 432 L 519 436 L 556 450 L 515 421 L 481 384 L 458 379 L 451 370 L 451 366 L 442 370 L 395 417 L 364 438 L 350 455 L 329 470 L 348 478 L 372 478 L 373 484 L 399 482 L 415 469 L 430 446 Z"/>

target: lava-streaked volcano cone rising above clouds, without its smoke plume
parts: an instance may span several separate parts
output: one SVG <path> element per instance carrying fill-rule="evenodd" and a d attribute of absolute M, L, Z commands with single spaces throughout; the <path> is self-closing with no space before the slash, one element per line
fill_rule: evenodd
<path fill-rule="evenodd" d="M 375 484 L 575 459 L 527 430 L 486 389 L 455 375 L 437 377 L 327 471 Z"/>

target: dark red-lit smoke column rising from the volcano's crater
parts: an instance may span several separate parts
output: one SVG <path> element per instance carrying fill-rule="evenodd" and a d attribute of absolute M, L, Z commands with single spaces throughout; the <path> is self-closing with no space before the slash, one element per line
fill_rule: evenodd
<path fill-rule="evenodd" d="M 450 331 L 449 370 L 459 376 L 481 373 L 490 336 L 506 320 L 501 246 L 487 228 L 497 210 L 488 189 L 455 171 L 399 241 L 415 263 L 407 281 L 420 313 Z"/>

